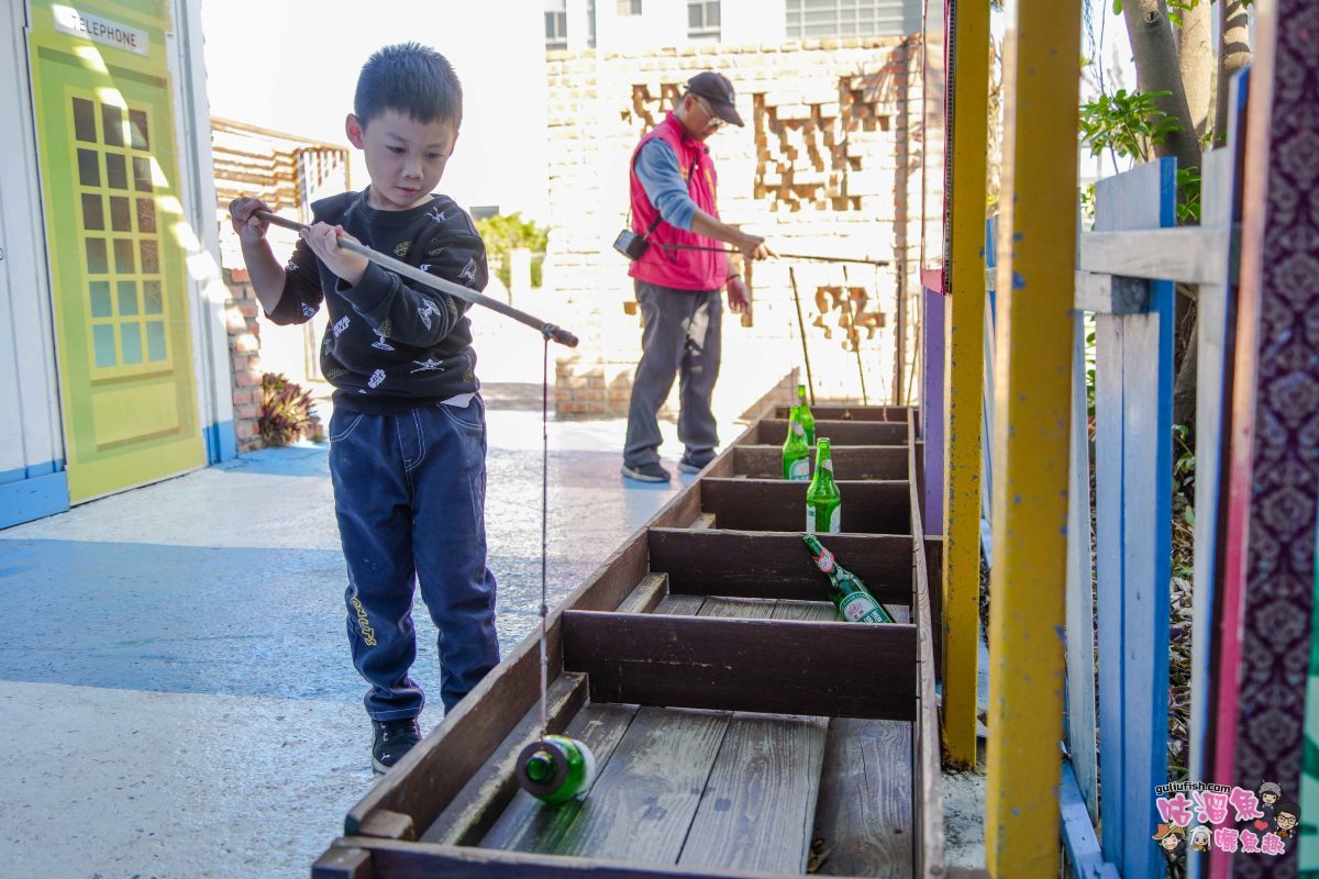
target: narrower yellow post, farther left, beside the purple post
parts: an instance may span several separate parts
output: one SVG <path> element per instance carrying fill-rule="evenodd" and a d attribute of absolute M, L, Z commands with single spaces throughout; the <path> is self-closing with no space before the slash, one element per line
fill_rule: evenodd
<path fill-rule="evenodd" d="M 943 745 L 976 764 L 980 621 L 980 426 L 985 320 L 985 150 L 989 112 L 989 4 L 956 5 L 952 45 L 952 191 L 947 310 L 948 401 L 943 460 Z"/>

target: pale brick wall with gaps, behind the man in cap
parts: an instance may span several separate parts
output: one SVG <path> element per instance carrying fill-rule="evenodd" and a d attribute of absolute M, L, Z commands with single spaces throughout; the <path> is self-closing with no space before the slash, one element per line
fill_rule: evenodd
<path fill-rule="evenodd" d="M 628 159 L 702 70 L 732 79 L 747 120 L 710 140 L 721 217 L 765 235 L 781 253 L 890 262 L 851 265 L 845 277 L 838 264 L 754 265 L 752 316 L 739 322 L 725 311 L 716 414 L 735 418 L 803 365 L 789 266 L 816 394 L 860 398 L 860 372 L 871 402 L 896 397 L 901 306 L 905 397 L 915 353 L 907 318 L 915 310 L 906 303 L 919 291 L 919 62 L 915 38 L 551 53 L 551 232 L 536 308 L 582 337 L 579 349 L 558 357 L 557 411 L 627 411 L 641 327 L 627 262 L 611 245 L 627 221 Z M 675 395 L 677 387 L 670 410 Z"/>

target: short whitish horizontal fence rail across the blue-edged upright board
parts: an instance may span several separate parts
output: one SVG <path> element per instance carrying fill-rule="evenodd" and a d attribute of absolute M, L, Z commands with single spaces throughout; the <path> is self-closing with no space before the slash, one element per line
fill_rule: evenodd
<path fill-rule="evenodd" d="M 1079 268 L 1096 274 L 1181 283 L 1215 283 L 1223 278 L 1231 231 L 1200 227 L 1126 227 L 1080 236 Z M 1138 232 L 1128 229 L 1140 229 Z"/>

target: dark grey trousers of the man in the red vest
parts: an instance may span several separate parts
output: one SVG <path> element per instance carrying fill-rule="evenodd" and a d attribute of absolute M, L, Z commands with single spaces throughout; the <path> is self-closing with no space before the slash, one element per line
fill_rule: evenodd
<path fill-rule="evenodd" d="M 710 398 L 719 378 L 720 320 L 718 290 L 675 290 L 636 282 L 641 306 L 641 362 L 628 405 L 627 467 L 660 461 L 656 418 L 678 374 L 678 439 L 699 459 L 719 444 Z"/>

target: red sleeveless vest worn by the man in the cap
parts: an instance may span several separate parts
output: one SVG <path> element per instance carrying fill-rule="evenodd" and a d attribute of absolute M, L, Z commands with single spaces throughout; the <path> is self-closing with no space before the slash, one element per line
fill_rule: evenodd
<path fill-rule="evenodd" d="M 678 117 L 670 112 L 654 130 L 648 133 L 632 152 L 629 175 L 632 184 L 632 231 L 645 235 L 646 229 L 660 219 L 660 211 L 650 204 L 641 181 L 637 179 L 637 153 L 646 141 L 663 138 L 674 156 L 678 157 L 678 169 L 683 179 L 687 181 L 687 194 L 696 207 L 719 219 L 715 208 L 715 163 L 710 159 L 710 150 L 700 141 L 690 137 Z M 650 246 L 645 254 L 633 261 L 628 274 L 638 281 L 654 283 L 661 287 L 675 287 L 678 290 L 719 290 L 728 281 L 728 256 L 714 250 L 674 250 L 658 246 L 661 244 L 696 244 L 702 246 L 721 248 L 724 244 L 715 239 L 707 239 L 692 232 L 686 232 L 677 227 L 660 221 L 654 232 L 649 235 Z"/>

